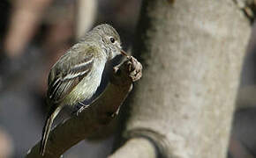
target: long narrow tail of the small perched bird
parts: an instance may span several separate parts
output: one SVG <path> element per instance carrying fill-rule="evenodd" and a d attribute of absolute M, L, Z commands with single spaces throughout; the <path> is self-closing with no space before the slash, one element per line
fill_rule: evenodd
<path fill-rule="evenodd" d="M 41 133 L 41 146 L 40 146 L 40 154 L 43 155 L 45 152 L 45 147 L 48 141 L 48 137 L 49 137 L 49 132 L 50 132 L 50 128 L 52 126 L 53 120 L 54 118 L 56 118 L 56 115 L 58 114 L 58 112 L 62 109 L 62 106 L 58 105 L 56 106 L 56 104 L 51 105 L 50 106 L 50 111 L 48 114 L 48 117 L 45 121 L 45 124 L 43 126 L 42 129 L 42 133 Z"/>

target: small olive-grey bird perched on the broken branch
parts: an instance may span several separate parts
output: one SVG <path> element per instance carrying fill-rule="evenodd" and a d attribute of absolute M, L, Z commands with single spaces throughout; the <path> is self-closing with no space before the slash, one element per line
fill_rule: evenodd
<path fill-rule="evenodd" d="M 43 127 L 40 154 L 45 153 L 54 118 L 64 105 L 82 104 L 93 97 L 102 80 L 107 61 L 124 53 L 117 31 L 110 25 L 97 25 L 84 39 L 71 47 L 50 69 L 47 103 L 49 113 Z"/>

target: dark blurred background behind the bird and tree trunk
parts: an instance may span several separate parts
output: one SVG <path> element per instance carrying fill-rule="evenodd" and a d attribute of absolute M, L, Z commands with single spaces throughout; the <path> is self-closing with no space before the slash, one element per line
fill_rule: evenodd
<path fill-rule="evenodd" d="M 24 157 L 41 139 L 49 68 L 94 25 L 119 32 L 132 46 L 140 0 L 0 1 L 0 158 Z M 228 157 L 256 157 L 256 26 L 248 44 Z M 69 117 L 66 110 L 61 115 Z M 72 147 L 64 157 L 106 157 L 117 122 Z M 217 143 L 217 142 L 216 142 Z"/>

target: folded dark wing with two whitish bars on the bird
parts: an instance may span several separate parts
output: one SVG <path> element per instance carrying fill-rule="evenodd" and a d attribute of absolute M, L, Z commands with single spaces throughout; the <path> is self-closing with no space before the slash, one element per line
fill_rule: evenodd
<path fill-rule="evenodd" d="M 71 49 L 70 51 L 74 50 Z M 76 49 L 74 51 L 81 51 Z M 66 97 L 76 85 L 86 77 L 93 68 L 93 48 L 82 50 L 81 54 L 64 55 L 56 65 L 51 68 L 48 78 L 48 98 L 53 103 L 58 103 Z M 85 52 L 87 51 L 87 52 Z M 68 52 L 69 53 L 69 52 Z M 56 68 L 55 68 L 56 67 Z"/>

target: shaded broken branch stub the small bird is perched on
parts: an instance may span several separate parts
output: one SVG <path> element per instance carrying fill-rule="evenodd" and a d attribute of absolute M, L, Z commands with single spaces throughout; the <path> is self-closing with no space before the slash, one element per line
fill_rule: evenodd
<path fill-rule="evenodd" d="M 108 125 L 132 90 L 132 82 L 141 77 L 141 70 L 141 64 L 133 57 L 129 57 L 128 61 L 115 68 L 115 73 L 111 76 L 106 90 L 94 103 L 77 117 L 68 119 L 51 131 L 43 157 L 60 157 L 80 140 L 84 140 L 99 128 Z M 39 147 L 40 142 L 27 152 L 26 157 L 42 157 L 39 154 Z"/>

